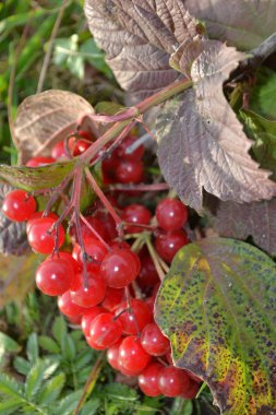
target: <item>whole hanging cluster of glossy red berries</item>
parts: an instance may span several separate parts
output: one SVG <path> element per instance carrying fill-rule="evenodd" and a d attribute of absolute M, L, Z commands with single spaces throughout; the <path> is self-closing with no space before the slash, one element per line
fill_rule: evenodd
<path fill-rule="evenodd" d="M 133 143 L 133 138 L 125 139 L 103 162 L 106 182 L 118 179 L 120 182 L 141 181 L 144 147 L 139 146 L 129 153 Z M 132 158 L 134 153 L 136 162 Z M 134 178 L 133 168 L 128 169 L 125 165 L 134 166 L 135 163 L 142 173 Z M 128 173 L 128 180 L 118 173 L 122 171 L 119 168 L 122 164 L 123 171 L 132 171 Z M 117 199 L 110 197 L 109 200 L 130 240 L 131 235 L 147 232 L 154 237 L 157 257 L 165 262 L 170 263 L 176 252 L 188 244 L 183 230 L 188 210 L 180 201 L 161 200 L 153 217 L 143 204 L 120 208 Z M 81 324 L 91 347 L 107 349 L 109 364 L 123 375 L 137 376 L 141 390 L 149 396 L 195 396 L 201 380 L 172 366 L 170 343 L 154 322 L 159 278 L 145 246 L 136 253 L 124 240 L 118 240 L 112 216 L 98 202 L 81 223 L 84 249 L 73 226 L 70 251 L 60 250 L 65 230 L 62 224 L 57 226 L 58 215 L 50 212 L 44 216 L 43 212 L 36 212 L 35 199 L 25 191 L 10 192 L 2 210 L 12 221 L 27 221 L 29 246 L 35 252 L 48 256 L 36 271 L 37 287 L 46 295 L 58 296 L 60 311 L 72 323 Z"/>

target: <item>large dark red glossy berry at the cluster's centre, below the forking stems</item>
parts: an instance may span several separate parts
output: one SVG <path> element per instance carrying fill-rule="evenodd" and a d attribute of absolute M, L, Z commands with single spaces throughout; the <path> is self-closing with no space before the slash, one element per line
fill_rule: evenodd
<path fill-rule="evenodd" d="M 106 254 L 100 271 L 109 287 L 123 288 L 137 276 L 139 263 L 137 256 L 130 249 L 116 249 Z"/>

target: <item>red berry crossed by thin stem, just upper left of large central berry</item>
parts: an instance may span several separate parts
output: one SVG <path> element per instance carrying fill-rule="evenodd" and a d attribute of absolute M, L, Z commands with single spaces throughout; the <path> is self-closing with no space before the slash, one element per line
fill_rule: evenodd
<path fill-rule="evenodd" d="M 96 238 L 85 238 L 83 240 L 85 251 L 88 256 L 86 266 L 88 271 L 99 271 L 100 263 L 107 254 L 106 247 Z M 82 251 L 79 244 L 75 244 L 72 252 L 73 258 L 77 261 L 80 266 L 83 266 Z"/>

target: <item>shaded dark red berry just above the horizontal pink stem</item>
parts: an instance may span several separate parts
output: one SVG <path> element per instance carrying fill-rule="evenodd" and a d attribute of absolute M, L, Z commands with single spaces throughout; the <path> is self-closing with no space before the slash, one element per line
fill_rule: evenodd
<path fill-rule="evenodd" d="M 115 169 L 116 179 L 120 183 L 139 183 L 144 174 L 143 162 L 121 162 Z"/>

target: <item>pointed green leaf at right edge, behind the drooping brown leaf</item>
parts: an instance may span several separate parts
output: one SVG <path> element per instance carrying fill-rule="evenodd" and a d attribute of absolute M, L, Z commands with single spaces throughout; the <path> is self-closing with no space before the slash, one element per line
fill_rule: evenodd
<path fill-rule="evenodd" d="M 252 146 L 255 159 L 263 168 L 273 171 L 272 178 L 276 180 L 276 121 L 249 109 L 241 109 L 240 115 L 248 135 L 255 141 Z"/>

